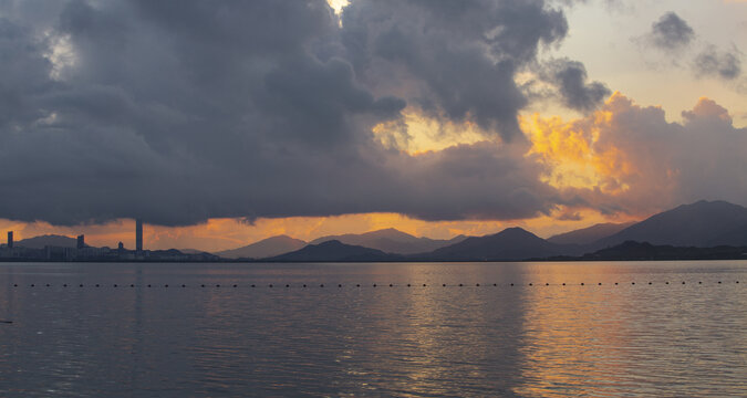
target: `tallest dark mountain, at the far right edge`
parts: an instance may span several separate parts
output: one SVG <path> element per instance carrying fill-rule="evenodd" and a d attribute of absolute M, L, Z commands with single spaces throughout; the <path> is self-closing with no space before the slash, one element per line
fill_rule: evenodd
<path fill-rule="evenodd" d="M 610 248 L 625 241 L 699 248 L 747 245 L 747 209 L 725 201 L 683 205 L 603 238 L 593 247 Z"/>

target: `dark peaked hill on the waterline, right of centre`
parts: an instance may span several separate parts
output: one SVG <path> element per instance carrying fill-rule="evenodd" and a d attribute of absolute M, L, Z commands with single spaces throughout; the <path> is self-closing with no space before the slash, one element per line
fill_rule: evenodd
<path fill-rule="evenodd" d="M 521 228 L 508 228 L 491 235 L 467 238 L 417 258 L 432 261 L 509 261 L 581 254 L 580 251 L 575 245 L 550 243 Z"/>

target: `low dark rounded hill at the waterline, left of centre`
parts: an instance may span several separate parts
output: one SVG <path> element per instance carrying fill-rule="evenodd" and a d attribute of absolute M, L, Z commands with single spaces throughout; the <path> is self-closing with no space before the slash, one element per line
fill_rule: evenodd
<path fill-rule="evenodd" d="M 319 244 L 309 244 L 294 252 L 264 259 L 266 261 L 397 261 L 403 260 L 402 255 L 384 253 L 381 250 L 363 248 L 357 245 L 344 244 L 332 240 Z"/>

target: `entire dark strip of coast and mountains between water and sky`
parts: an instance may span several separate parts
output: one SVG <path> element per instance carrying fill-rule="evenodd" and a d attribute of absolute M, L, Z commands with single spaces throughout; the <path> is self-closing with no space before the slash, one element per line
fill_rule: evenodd
<path fill-rule="evenodd" d="M 79 237 L 82 239 L 82 237 Z M 219 253 L 83 247 L 45 235 L 0 247 L 0 261 L 76 262 L 479 262 L 747 259 L 747 209 L 698 201 L 641 222 L 596 224 L 542 239 L 521 228 L 449 240 L 417 238 L 396 229 L 319 238 L 310 243 L 272 237 Z"/>

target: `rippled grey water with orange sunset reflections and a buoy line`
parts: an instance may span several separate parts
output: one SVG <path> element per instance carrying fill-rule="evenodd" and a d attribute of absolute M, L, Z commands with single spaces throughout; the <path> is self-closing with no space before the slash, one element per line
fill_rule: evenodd
<path fill-rule="evenodd" d="M 0 320 L 2 397 L 747 396 L 747 262 L 0 263 Z"/>

